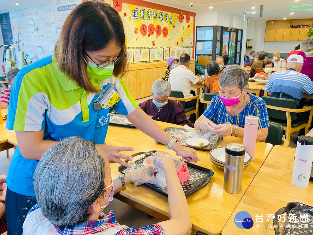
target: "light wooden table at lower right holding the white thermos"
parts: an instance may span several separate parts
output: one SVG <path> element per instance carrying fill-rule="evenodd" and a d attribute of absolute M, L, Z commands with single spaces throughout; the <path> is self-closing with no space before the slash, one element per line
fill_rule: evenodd
<path fill-rule="evenodd" d="M 275 145 L 223 228 L 223 235 L 272 235 L 274 234 L 273 223 L 266 222 L 266 214 L 275 214 L 276 211 L 287 206 L 291 201 L 313 206 L 313 182 L 310 181 L 307 188 L 299 188 L 291 184 L 294 156 L 295 149 Z M 252 228 L 241 229 L 235 225 L 234 217 L 240 211 L 250 213 L 254 222 Z M 263 223 L 259 222 L 259 219 L 258 223 L 255 222 L 257 214 L 259 216 L 262 214 Z M 256 228 L 258 224 L 259 228 Z"/>

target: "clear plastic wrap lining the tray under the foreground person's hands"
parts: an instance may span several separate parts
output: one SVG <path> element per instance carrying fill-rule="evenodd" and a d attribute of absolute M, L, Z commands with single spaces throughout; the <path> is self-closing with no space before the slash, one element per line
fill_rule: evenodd
<path fill-rule="evenodd" d="M 140 167 L 143 167 L 143 160 L 149 156 L 153 156 L 154 153 L 152 152 L 146 152 L 144 153 L 145 155 L 139 155 L 142 156 L 140 159 L 134 161 L 131 163 L 131 168 L 126 168 L 122 171 L 123 174 L 127 174 L 129 170 L 133 170 L 133 169 L 137 169 Z M 136 156 L 137 157 L 137 156 Z M 187 191 L 191 191 L 194 188 L 197 188 L 199 185 L 201 185 L 203 183 L 203 178 L 207 177 L 209 174 L 205 173 L 205 172 L 201 172 L 195 169 L 192 169 L 190 167 L 187 167 L 187 169 L 189 170 L 189 180 L 182 182 L 182 188 L 185 192 Z M 151 185 L 151 184 L 149 184 Z M 158 190 L 161 190 L 162 192 L 167 194 L 167 187 L 164 188 L 159 188 L 156 185 L 151 185 L 155 188 L 158 188 Z"/>

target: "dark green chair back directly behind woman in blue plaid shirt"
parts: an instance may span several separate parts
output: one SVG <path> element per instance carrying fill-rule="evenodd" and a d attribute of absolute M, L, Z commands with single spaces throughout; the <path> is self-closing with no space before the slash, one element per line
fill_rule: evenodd
<path fill-rule="evenodd" d="M 267 128 L 267 138 L 265 139 L 266 143 L 283 146 L 289 145 L 289 142 L 286 139 L 283 139 L 284 128 L 282 125 L 274 122 L 269 122 L 269 128 Z"/>

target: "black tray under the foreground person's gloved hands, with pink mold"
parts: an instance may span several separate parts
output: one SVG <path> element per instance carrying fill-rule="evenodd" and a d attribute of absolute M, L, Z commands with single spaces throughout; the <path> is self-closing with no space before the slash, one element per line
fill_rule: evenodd
<path fill-rule="evenodd" d="M 145 158 L 147 158 L 148 156 L 152 156 L 155 152 L 156 151 L 140 152 L 140 153 L 133 154 L 131 156 L 135 157 L 135 156 L 140 155 L 140 154 L 145 155 L 142 158 L 135 161 L 136 163 L 138 163 L 138 168 L 139 168 L 139 167 L 142 167 L 142 164 L 140 164 L 140 163 L 142 163 L 142 161 Z M 125 162 L 128 162 L 128 161 L 126 160 Z M 133 163 L 135 163 L 135 162 L 133 162 Z M 185 182 L 181 183 L 186 197 L 191 195 L 195 191 L 202 189 L 204 186 L 206 186 L 210 182 L 211 177 L 214 174 L 213 170 L 210 170 L 210 169 L 198 166 L 198 165 L 194 165 L 194 164 L 189 163 L 189 162 L 187 162 L 187 169 L 190 171 L 191 176 L 198 174 L 199 176 L 203 176 L 203 177 L 194 178 L 194 179 L 192 179 L 192 182 L 185 181 Z M 122 174 L 126 174 L 127 168 L 125 166 L 120 166 L 118 168 L 118 171 L 121 172 Z M 145 183 L 143 185 L 145 185 L 146 187 L 148 187 L 148 188 L 150 188 L 150 189 L 152 189 L 158 193 L 161 193 L 164 196 L 168 196 L 167 195 L 167 187 L 159 188 L 156 185 L 152 185 L 149 183 Z"/>

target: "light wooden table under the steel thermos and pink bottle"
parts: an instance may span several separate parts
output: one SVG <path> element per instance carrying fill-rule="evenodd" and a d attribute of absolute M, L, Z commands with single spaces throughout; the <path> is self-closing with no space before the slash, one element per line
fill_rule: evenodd
<path fill-rule="evenodd" d="M 182 128 L 182 126 L 170 123 L 158 121 L 156 121 L 156 123 L 161 128 Z M 15 145 L 17 144 L 15 137 L 9 139 L 9 142 Z M 157 144 L 152 138 L 135 128 L 109 125 L 105 142 L 106 144 L 117 146 L 134 147 L 134 152 L 125 152 L 125 154 L 129 155 L 151 150 L 164 150 L 175 156 L 174 151 L 168 150 L 165 145 Z M 233 142 L 242 144 L 242 139 L 228 136 L 224 138 L 224 141 L 218 147 L 226 146 Z M 196 163 L 196 165 L 213 170 L 214 175 L 207 186 L 187 197 L 193 231 L 201 231 L 206 234 L 221 233 L 233 213 L 233 210 L 238 205 L 272 148 L 272 144 L 257 142 L 256 158 L 249 167 L 244 170 L 242 191 L 239 194 L 230 194 L 223 190 L 224 171 L 212 164 L 209 159 L 208 151 L 197 150 L 198 157 L 200 157 L 201 161 Z M 136 158 L 134 160 L 136 160 Z M 120 165 L 115 163 L 110 164 L 110 166 L 113 179 L 119 177 L 119 175 L 121 175 L 118 171 Z M 132 184 L 129 184 L 126 190 L 120 191 L 115 194 L 114 197 L 156 218 L 161 220 L 168 219 L 167 197 L 143 185 L 134 187 Z"/>

